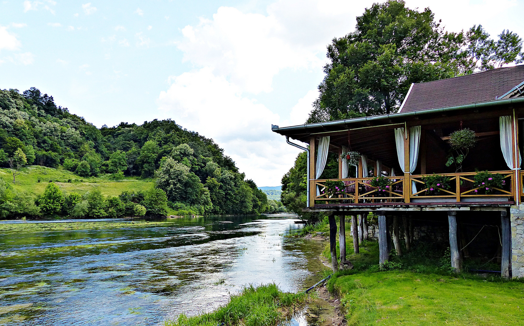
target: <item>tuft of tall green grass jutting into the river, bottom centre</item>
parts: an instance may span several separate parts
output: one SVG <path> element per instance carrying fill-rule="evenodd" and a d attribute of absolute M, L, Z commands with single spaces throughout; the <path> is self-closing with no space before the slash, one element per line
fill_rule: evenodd
<path fill-rule="evenodd" d="M 273 326 L 289 319 L 307 299 L 303 293 L 282 292 L 276 284 L 257 288 L 251 285 L 213 312 L 192 317 L 181 314 L 176 320 L 167 321 L 166 326 Z"/>

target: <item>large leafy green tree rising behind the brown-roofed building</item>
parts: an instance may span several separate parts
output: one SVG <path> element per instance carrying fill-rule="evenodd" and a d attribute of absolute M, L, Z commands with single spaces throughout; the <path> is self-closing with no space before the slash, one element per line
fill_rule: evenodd
<path fill-rule="evenodd" d="M 375 3 L 356 18 L 354 32 L 334 38 L 308 122 L 389 114 L 411 83 L 433 81 L 480 69 L 519 63 L 522 40 L 503 31 L 489 39 L 481 26 L 444 31 L 429 8 L 405 2 Z"/>

